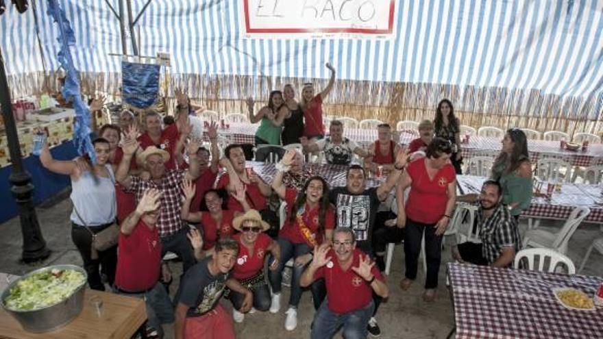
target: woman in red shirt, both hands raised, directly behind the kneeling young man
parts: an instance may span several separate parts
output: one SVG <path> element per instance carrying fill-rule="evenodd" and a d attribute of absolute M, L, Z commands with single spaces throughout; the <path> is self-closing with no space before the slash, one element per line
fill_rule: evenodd
<path fill-rule="evenodd" d="M 190 221 L 190 223 L 201 223 L 201 226 L 197 228 L 203 234 L 203 250 L 206 253 L 213 253 L 214 245 L 219 238 L 230 237 L 234 234 L 232 221 L 240 212 L 226 210 L 225 190 L 208 190 L 204 199 L 201 200 L 199 212 L 190 212 L 190 202 L 195 199 L 196 191 L 197 188 L 193 181 L 188 179 L 182 181 L 182 192 L 184 192 L 185 199 L 180 210 L 180 218 Z M 238 188 L 232 197 L 243 205 L 243 210 L 249 210 L 249 205 L 245 201 L 245 188 Z"/>

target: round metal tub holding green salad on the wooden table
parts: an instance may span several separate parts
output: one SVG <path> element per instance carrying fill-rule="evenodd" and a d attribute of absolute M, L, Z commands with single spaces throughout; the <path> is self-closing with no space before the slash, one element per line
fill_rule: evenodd
<path fill-rule="evenodd" d="M 5 305 L 5 299 L 10 295 L 10 290 L 19 283 L 19 281 L 34 275 L 35 273 L 40 273 L 43 271 L 49 271 L 53 269 L 58 270 L 74 270 L 82 273 L 84 275 L 84 282 L 80 285 L 69 297 L 64 299 L 63 301 L 59 301 L 54 305 L 49 305 L 47 307 L 39 308 L 37 310 L 12 310 Z M 23 277 L 19 277 L 12 281 L 8 287 L 2 293 L 0 297 L 0 304 L 6 310 L 8 314 L 13 316 L 25 331 L 29 332 L 45 332 L 52 331 L 53 329 L 59 329 L 73 321 L 79 313 L 82 312 L 82 308 L 84 307 L 84 290 L 86 289 L 86 282 L 88 280 L 88 275 L 83 268 L 75 265 L 53 265 L 47 266 L 43 268 L 39 268 L 36 271 L 32 271 L 27 273 L 27 275 L 23 275 Z"/>

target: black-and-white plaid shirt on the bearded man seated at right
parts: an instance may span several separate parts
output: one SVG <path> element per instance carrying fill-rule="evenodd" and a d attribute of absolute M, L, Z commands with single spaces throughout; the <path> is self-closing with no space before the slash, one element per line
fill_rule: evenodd
<path fill-rule="evenodd" d="M 501 203 L 493 214 L 485 219 L 480 207 L 476 221 L 481 226 L 482 255 L 489 264 L 493 264 L 500 257 L 505 247 L 515 247 L 516 253 L 521 248 L 517 223 L 506 205 Z"/>

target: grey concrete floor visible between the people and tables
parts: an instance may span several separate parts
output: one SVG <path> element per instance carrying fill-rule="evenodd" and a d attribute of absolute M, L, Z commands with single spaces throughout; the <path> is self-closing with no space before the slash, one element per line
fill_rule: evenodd
<path fill-rule="evenodd" d="M 49 201 L 37 209 L 38 220 L 42 227 L 42 234 L 45 236 L 47 246 L 51 249 L 50 257 L 42 263 L 23 264 L 19 262 L 21 257 L 21 229 L 19 218 L 0 225 L 2 237 L 0 238 L 0 272 L 15 275 L 23 275 L 35 268 L 48 266 L 51 264 L 82 264 L 77 249 L 71 242 L 69 223 L 69 214 L 71 213 L 71 201 L 62 197 Z M 62 199 L 61 199 L 62 198 Z M 542 227 L 557 228 L 561 222 L 543 222 Z M 525 229 L 525 223 L 521 223 L 521 229 Z M 576 268 L 582 262 L 584 253 L 587 251 L 593 238 L 603 236 L 599 225 L 582 224 L 569 242 L 568 256 L 576 264 Z M 453 310 L 450 303 L 450 294 L 445 288 L 445 263 L 450 260 L 450 247 L 445 247 L 443 260 L 440 270 L 440 286 L 438 298 L 434 303 L 424 303 L 421 299 L 423 291 L 424 273 L 419 268 L 417 281 L 410 290 L 402 291 L 398 287 L 399 280 L 402 279 L 404 266 L 404 251 L 402 246 L 395 247 L 393 269 L 391 275 L 387 277 L 390 288 L 389 300 L 383 303 L 377 314 L 378 323 L 382 329 L 380 338 L 445 338 L 450 329 L 454 326 Z M 182 265 L 179 262 L 172 262 L 171 267 L 175 277 L 180 275 Z M 599 253 L 593 253 L 591 259 L 587 262 L 586 268 L 582 274 L 585 275 L 603 275 L 603 260 Z M 171 295 L 174 294 L 175 286 L 178 281 L 175 280 L 171 285 Z M 298 325 L 295 331 L 286 331 L 284 329 L 284 320 L 286 304 L 288 301 L 288 288 L 283 289 L 282 309 L 278 314 L 269 314 L 257 312 L 256 314 L 247 314 L 245 321 L 236 324 L 236 334 L 238 338 L 309 338 L 310 323 L 315 311 L 312 307 L 310 292 L 305 292 L 298 310 Z M 231 310 L 230 302 L 224 304 Z M 173 327 L 166 325 L 165 338 L 173 338 Z M 341 338 L 341 334 L 335 336 Z"/>

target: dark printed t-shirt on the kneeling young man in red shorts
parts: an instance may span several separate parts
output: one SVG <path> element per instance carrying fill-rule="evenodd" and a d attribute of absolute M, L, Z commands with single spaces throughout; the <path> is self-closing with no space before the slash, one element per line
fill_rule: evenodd
<path fill-rule="evenodd" d="M 230 273 L 212 275 L 208 268 L 211 257 L 188 268 L 180 285 L 178 301 L 187 305 L 186 316 L 202 316 L 216 307 Z"/>

